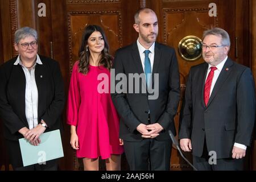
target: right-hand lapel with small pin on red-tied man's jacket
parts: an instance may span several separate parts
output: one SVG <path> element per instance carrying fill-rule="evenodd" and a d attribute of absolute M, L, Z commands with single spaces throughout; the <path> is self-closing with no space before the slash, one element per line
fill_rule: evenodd
<path fill-rule="evenodd" d="M 218 90 L 220 90 L 221 86 L 225 82 L 226 78 L 228 78 L 230 72 L 232 71 L 232 65 L 233 62 L 229 58 L 226 60 L 226 63 L 224 64 L 224 67 L 222 68 L 220 75 L 218 76 L 218 79 L 216 81 L 216 84 L 214 85 L 214 88 L 212 90 L 212 94 L 210 94 L 210 98 L 207 104 L 207 107 L 210 105 L 210 102 L 214 99 L 216 94 L 218 93 Z"/>

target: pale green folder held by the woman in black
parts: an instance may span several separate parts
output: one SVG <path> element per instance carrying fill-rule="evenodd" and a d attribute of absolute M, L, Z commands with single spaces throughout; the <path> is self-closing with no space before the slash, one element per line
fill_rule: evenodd
<path fill-rule="evenodd" d="M 19 139 L 24 167 L 37 163 L 46 164 L 48 160 L 64 156 L 60 130 L 43 133 L 39 138 L 41 143 L 38 146 L 33 146 L 24 138 Z"/>

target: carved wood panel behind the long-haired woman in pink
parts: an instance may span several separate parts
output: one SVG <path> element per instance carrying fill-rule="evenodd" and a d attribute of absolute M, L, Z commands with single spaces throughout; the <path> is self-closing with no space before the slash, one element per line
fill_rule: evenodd
<path fill-rule="evenodd" d="M 68 47 L 70 71 L 76 60 L 84 28 L 96 24 L 104 30 L 110 45 L 110 54 L 122 47 L 122 21 L 120 11 L 72 11 L 68 13 Z"/>

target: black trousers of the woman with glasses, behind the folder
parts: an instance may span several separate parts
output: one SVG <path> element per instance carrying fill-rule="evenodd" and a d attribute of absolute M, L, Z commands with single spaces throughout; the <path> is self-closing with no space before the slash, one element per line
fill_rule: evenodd
<path fill-rule="evenodd" d="M 49 160 L 46 164 L 34 164 L 23 167 L 22 155 L 19 142 L 6 140 L 8 155 L 14 171 L 56 171 L 58 169 L 58 159 Z"/>

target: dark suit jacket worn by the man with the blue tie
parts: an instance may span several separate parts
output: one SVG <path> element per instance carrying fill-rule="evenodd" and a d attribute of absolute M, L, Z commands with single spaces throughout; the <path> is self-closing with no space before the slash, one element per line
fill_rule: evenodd
<path fill-rule="evenodd" d="M 118 49 L 113 63 L 115 75 L 124 73 L 129 82 L 129 73 L 144 73 L 137 43 Z M 127 141 L 138 142 L 142 140 L 141 134 L 136 130 L 140 123 L 148 125 L 148 110 L 150 110 L 151 123 L 158 122 L 164 130 L 156 139 L 169 140 L 168 130 L 175 133 L 174 116 L 180 98 L 180 79 L 177 59 L 173 48 L 155 43 L 155 57 L 152 75 L 159 73 L 159 97 L 148 100 L 148 93 L 142 93 L 140 84 L 139 93 L 113 93 L 112 100 L 121 117 L 120 138 Z M 131 81 L 131 80 L 130 80 Z M 115 85 L 119 81 L 115 82 Z M 154 85 L 154 76 L 152 77 Z M 127 84 L 127 92 L 129 85 Z"/>

